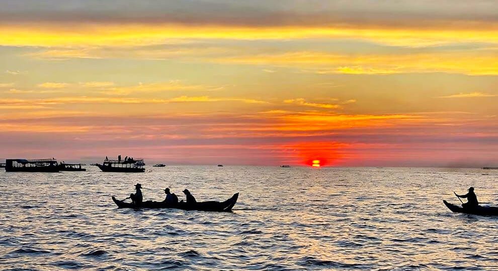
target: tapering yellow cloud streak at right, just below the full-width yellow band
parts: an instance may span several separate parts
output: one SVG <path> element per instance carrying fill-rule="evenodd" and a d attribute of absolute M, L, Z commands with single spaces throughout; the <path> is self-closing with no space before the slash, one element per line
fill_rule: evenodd
<path fill-rule="evenodd" d="M 273 65 L 300 68 L 308 73 L 393 74 L 447 72 L 468 75 L 498 74 L 494 52 L 438 52 L 419 54 L 330 54 L 290 52 L 212 59 L 218 63 Z M 304 70 L 303 70 L 304 69 Z"/>

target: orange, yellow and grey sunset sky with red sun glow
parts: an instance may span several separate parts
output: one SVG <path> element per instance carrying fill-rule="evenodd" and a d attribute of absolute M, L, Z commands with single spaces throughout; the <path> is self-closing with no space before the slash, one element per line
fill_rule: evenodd
<path fill-rule="evenodd" d="M 496 10 L 1 0 L 0 157 L 498 166 Z"/>

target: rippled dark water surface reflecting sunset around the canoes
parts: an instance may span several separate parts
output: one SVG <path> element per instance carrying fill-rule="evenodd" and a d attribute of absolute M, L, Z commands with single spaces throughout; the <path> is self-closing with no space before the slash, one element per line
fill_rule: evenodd
<path fill-rule="evenodd" d="M 497 204 L 498 171 L 171 166 L 145 174 L 0 173 L 0 269 L 497 269 L 498 218 L 451 213 L 452 191 Z M 485 175 L 483 175 L 485 174 Z M 233 213 L 117 209 L 240 197 Z"/>

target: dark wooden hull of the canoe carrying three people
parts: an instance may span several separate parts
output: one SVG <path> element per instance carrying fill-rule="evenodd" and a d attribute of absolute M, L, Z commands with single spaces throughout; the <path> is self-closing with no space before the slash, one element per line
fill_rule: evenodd
<path fill-rule="evenodd" d="M 233 194 L 233 196 L 223 202 L 218 201 L 205 201 L 198 202 L 196 204 L 187 204 L 185 202 L 179 202 L 178 204 L 172 205 L 166 202 L 157 201 L 144 201 L 140 206 L 136 206 L 133 203 L 123 202 L 117 200 L 114 196 L 112 200 L 118 208 L 133 208 L 133 209 L 182 209 L 182 210 L 195 210 L 195 211 L 210 211 L 210 212 L 231 212 L 233 206 L 237 202 L 238 193 Z"/>

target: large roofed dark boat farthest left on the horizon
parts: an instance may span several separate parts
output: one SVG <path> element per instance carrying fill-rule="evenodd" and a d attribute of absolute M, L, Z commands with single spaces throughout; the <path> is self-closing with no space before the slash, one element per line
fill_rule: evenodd
<path fill-rule="evenodd" d="M 52 159 L 7 159 L 5 160 L 7 172 L 59 172 L 57 160 Z"/>

